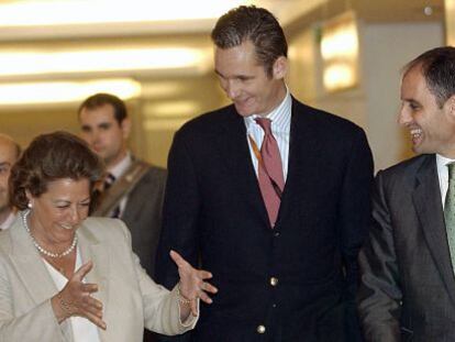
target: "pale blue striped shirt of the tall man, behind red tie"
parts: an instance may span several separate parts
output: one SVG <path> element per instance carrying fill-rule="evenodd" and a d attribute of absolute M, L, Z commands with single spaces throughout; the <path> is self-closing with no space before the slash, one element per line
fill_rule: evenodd
<path fill-rule="evenodd" d="M 282 175 L 286 178 L 288 176 L 288 161 L 289 161 L 289 136 L 290 136 L 290 121 L 291 121 L 291 110 L 292 110 L 292 98 L 290 96 L 288 87 L 286 87 L 286 96 L 281 103 L 278 104 L 270 113 L 265 118 L 270 119 L 271 121 L 271 133 L 275 136 L 275 140 L 278 143 L 279 154 L 281 157 L 282 164 Z M 259 124 L 254 121 L 256 118 L 264 118 L 259 114 L 253 114 L 244 118 L 246 125 L 246 134 L 249 135 L 257 147 L 260 148 L 264 140 L 264 130 Z M 258 172 L 258 162 L 256 155 L 254 154 L 253 146 L 249 142 L 248 136 L 246 136 L 249 146 L 249 153 L 252 155 L 253 166 L 256 172 Z"/>

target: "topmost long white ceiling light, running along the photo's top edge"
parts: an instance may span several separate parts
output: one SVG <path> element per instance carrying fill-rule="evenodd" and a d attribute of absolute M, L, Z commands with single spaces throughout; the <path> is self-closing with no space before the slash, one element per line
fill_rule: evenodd
<path fill-rule="evenodd" d="M 0 5 L 0 26 L 68 25 L 215 19 L 241 0 L 35 0 Z"/>

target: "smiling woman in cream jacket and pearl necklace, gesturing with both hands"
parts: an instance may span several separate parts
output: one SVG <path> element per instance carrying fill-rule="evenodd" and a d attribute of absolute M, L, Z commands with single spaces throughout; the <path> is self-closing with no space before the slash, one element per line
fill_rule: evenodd
<path fill-rule="evenodd" d="M 140 342 L 144 324 L 192 329 L 197 298 L 210 302 L 208 272 L 173 252 L 181 278 L 168 291 L 141 267 L 122 221 L 87 218 L 101 165 L 79 137 L 56 132 L 13 166 L 10 196 L 21 211 L 0 234 L 1 341 Z"/>

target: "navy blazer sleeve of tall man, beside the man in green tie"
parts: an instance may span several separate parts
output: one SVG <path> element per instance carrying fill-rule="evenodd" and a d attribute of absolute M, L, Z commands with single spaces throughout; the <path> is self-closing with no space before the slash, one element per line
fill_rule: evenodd
<path fill-rule="evenodd" d="M 341 253 L 345 269 L 346 328 L 348 341 L 360 341 L 355 296 L 359 283 L 358 253 L 370 221 L 373 157 L 365 133 L 357 131 L 348 154 L 340 201 Z"/>

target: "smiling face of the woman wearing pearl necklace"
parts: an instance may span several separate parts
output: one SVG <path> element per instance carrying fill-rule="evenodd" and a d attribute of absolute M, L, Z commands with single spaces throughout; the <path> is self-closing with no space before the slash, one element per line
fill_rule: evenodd
<path fill-rule="evenodd" d="M 75 231 L 88 216 L 89 180 L 62 178 L 49 181 L 47 191 L 40 197 L 26 194 L 32 205 L 30 229 L 35 239 L 46 244 L 70 244 Z"/>

